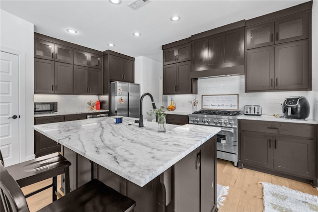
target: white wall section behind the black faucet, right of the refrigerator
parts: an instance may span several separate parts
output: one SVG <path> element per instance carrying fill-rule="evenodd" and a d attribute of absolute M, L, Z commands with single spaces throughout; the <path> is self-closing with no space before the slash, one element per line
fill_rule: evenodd
<path fill-rule="evenodd" d="M 135 58 L 135 83 L 141 85 L 140 94 L 150 93 L 154 97 L 156 106 L 160 106 L 160 79 L 162 79 L 162 63 L 140 56 Z M 151 121 L 154 116 L 147 115 L 152 109 L 151 99 L 146 96 L 143 100 L 143 117 Z"/>

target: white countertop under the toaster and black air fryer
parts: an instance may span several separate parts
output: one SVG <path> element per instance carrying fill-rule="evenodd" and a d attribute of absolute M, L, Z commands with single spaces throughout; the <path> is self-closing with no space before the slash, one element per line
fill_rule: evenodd
<path fill-rule="evenodd" d="M 318 121 L 313 120 L 313 119 L 283 118 L 283 117 L 275 117 L 273 115 L 244 115 L 244 114 L 241 114 L 238 116 L 238 119 L 318 124 Z"/>

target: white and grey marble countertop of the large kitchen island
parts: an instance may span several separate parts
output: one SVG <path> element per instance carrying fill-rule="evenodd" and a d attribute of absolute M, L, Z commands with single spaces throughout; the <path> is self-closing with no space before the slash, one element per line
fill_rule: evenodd
<path fill-rule="evenodd" d="M 134 120 L 123 117 L 122 124 L 113 124 L 113 117 L 100 117 L 32 127 L 141 187 L 221 130 L 185 124 L 164 133 L 157 127 L 129 125 Z"/>

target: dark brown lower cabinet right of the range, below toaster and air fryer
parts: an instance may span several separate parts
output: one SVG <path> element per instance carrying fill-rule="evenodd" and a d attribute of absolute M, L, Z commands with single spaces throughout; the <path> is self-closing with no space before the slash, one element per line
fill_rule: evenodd
<path fill-rule="evenodd" d="M 317 186 L 314 125 L 239 120 L 239 127 L 240 168 L 305 179 Z"/>

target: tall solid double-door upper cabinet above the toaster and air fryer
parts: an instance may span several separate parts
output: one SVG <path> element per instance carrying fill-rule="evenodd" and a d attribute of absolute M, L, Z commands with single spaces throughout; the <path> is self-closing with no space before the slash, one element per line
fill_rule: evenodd
<path fill-rule="evenodd" d="M 245 91 L 310 90 L 308 39 L 246 52 Z"/>

